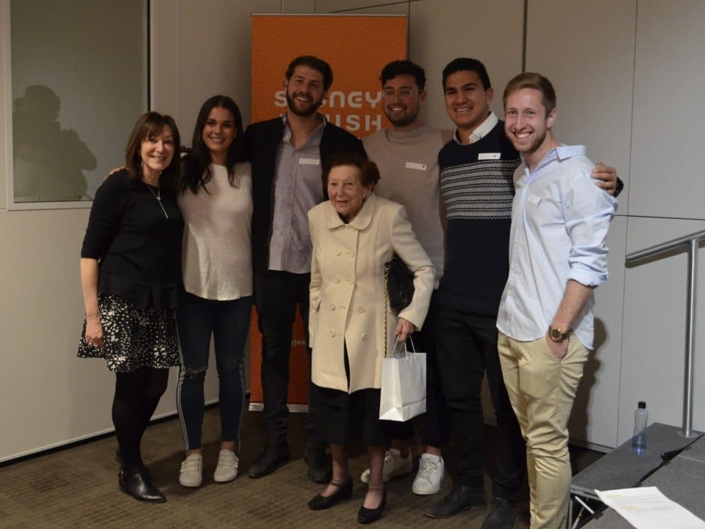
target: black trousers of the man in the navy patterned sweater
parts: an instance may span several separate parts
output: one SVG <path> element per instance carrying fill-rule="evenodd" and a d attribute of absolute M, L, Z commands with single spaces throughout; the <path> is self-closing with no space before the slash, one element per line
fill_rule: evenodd
<path fill-rule="evenodd" d="M 497 353 L 496 316 L 439 306 L 435 314 L 436 360 L 455 437 L 460 485 L 483 487 L 485 467 L 482 378 L 497 419 L 493 494 L 515 501 L 526 472 L 526 448 L 504 386 Z"/>

